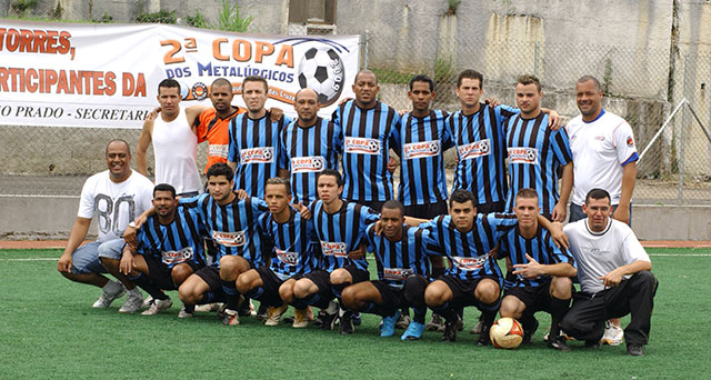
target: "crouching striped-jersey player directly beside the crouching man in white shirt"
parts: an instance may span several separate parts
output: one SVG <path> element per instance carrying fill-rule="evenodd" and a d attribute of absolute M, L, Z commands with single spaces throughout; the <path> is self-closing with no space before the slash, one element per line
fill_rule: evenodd
<path fill-rule="evenodd" d="M 521 189 L 515 196 L 513 213 L 519 226 L 500 239 L 499 258 L 513 264 L 513 283 L 505 283 L 499 313 L 523 322 L 523 342 L 530 343 L 538 328 L 537 311 L 551 314 L 548 347 L 570 351 L 561 336 L 559 323 L 568 312 L 572 296 L 570 277 L 577 274 L 574 260 L 553 243 L 551 233 L 538 222 L 540 207 L 533 189 Z"/>

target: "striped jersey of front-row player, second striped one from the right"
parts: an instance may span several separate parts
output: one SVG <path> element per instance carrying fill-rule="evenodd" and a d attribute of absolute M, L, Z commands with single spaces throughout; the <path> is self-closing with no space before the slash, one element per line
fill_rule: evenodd
<path fill-rule="evenodd" d="M 501 279 L 497 254 L 489 253 L 503 232 L 517 224 L 512 213 L 478 213 L 469 232 L 460 232 L 450 216 L 437 217 L 420 227 L 430 231 L 428 249 L 450 260 L 445 274 L 474 280 L 482 277 Z"/>

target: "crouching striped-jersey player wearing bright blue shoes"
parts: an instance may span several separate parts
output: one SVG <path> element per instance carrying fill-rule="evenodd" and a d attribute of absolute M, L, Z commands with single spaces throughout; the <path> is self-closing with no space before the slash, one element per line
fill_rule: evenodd
<path fill-rule="evenodd" d="M 381 337 L 391 337 L 400 309 L 412 307 L 414 319 L 402 340 L 415 340 L 424 331 L 424 288 L 429 283 L 430 261 L 424 244 L 425 230 L 403 226 L 404 208 L 395 200 L 382 206 L 380 222 L 368 226 L 368 252 L 375 254 L 377 281 L 352 284 L 341 294 L 343 304 L 356 311 L 383 317 Z M 380 229 L 380 236 L 375 231 Z"/>

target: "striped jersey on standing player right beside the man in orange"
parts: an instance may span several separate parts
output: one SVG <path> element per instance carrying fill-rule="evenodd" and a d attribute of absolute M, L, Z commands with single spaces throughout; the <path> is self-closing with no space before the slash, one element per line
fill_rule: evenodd
<path fill-rule="evenodd" d="M 250 197 L 263 198 L 267 180 L 277 177 L 279 133 L 291 122 L 286 116 L 276 122 L 270 118 L 269 111 L 257 120 L 240 113 L 230 122 L 228 160 L 237 162 L 234 189 Z"/>

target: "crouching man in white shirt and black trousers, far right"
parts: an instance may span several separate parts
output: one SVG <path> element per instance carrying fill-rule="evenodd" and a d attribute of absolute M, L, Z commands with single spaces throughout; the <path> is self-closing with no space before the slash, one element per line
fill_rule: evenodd
<path fill-rule="evenodd" d="M 652 262 L 625 223 L 610 218 L 610 194 L 592 189 L 582 207 L 588 219 L 569 223 L 563 231 L 578 263 L 581 292 L 560 322 L 569 336 L 599 347 L 604 322 L 631 313 L 624 329 L 627 353 L 644 354 L 649 341 L 657 279 Z"/>

